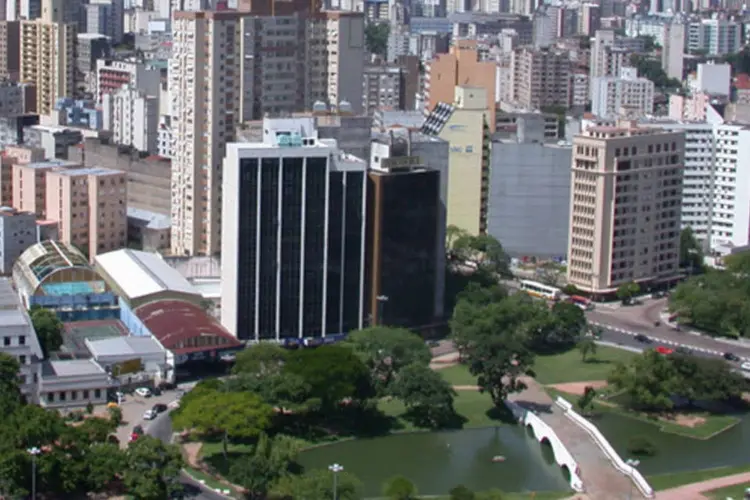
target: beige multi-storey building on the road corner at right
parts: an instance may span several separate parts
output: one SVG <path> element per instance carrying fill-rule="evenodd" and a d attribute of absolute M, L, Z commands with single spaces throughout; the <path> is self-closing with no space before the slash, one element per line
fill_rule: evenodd
<path fill-rule="evenodd" d="M 568 282 L 597 294 L 679 277 L 685 135 L 634 122 L 573 141 Z"/>

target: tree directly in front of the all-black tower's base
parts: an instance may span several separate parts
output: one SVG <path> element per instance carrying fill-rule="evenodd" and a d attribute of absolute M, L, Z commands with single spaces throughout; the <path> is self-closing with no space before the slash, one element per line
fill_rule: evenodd
<path fill-rule="evenodd" d="M 399 372 L 406 366 L 427 366 L 432 357 L 418 335 L 404 328 L 372 327 L 352 332 L 344 342 L 370 370 L 378 394 L 385 396 Z"/>

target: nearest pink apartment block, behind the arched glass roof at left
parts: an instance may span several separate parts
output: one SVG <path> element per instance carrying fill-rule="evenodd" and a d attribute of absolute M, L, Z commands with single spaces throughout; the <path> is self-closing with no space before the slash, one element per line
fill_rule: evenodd
<path fill-rule="evenodd" d="M 56 220 L 60 240 L 90 259 L 127 245 L 125 172 L 69 168 L 47 172 L 47 218 Z"/>

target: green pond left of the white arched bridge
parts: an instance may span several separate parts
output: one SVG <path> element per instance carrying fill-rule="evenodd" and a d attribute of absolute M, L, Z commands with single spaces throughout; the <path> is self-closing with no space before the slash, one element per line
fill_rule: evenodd
<path fill-rule="evenodd" d="M 506 461 L 493 463 L 496 455 Z M 512 425 L 346 441 L 304 451 L 299 462 L 313 469 L 343 465 L 362 481 L 368 497 L 381 496 L 383 483 L 397 475 L 413 481 L 421 495 L 446 494 L 459 484 L 474 491 L 569 488 L 551 449 Z"/>

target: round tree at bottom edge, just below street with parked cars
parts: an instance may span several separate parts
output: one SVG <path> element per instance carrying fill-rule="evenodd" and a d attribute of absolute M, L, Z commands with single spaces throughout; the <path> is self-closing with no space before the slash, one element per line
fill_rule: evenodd
<path fill-rule="evenodd" d="M 139 500 L 163 500 L 181 491 L 182 455 L 175 445 L 141 436 L 128 445 L 123 483 Z"/>

